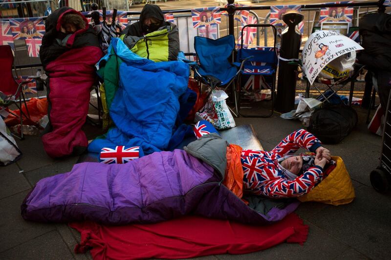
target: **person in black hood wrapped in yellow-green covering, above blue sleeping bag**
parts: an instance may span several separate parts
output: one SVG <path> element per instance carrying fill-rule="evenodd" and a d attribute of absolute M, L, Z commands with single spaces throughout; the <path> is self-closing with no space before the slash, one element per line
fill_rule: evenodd
<path fill-rule="evenodd" d="M 130 50 L 143 58 L 154 61 L 177 60 L 178 27 L 173 22 L 164 20 L 158 5 L 146 4 L 141 11 L 140 20 L 127 26 L 120 38 Z"/>

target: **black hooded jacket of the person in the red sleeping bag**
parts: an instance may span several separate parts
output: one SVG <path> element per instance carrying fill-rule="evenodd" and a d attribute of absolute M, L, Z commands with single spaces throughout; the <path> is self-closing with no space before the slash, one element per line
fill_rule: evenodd
<path fill-rule="evenodd" d="M 61 19 L 62 14 L 64 14 L 65 12 L 79 14 L 86 22 L 85 29 L 76 31 L 74 33 L 75 40 L 73 41 L 72 46 L 66 47 L 61 46 L 56 40 L 63 40 L 66 36 L 65 33 L 62 33 L 60 31 L 60 27 L 58 25 L 59 19 Z M 80 12 L 65 6 L 57 9 L 46 18 L 45 34 L 43 35 L 42 45 L 40 48 L 40 59 L 44 67 L 50 61 L 56 60 L 59 56 L 61 56 L 71 48 L 80 48 L 85 46 L 100 47 L 100 44 L 94 29 L 89 27 L 87 19 Z"/>

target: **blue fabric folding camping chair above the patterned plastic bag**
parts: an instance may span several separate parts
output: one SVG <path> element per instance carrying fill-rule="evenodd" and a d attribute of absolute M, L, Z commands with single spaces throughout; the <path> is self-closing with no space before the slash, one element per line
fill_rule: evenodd
<path fill-rule="evenodd" d="M 198 59 L 198 64 L 193 66 L 194 78 L 210 87 L 208 95 L 218 88 L 224 88 L 224 91 L 234 84 L 233 94 L 235 99 L 236 113 L 238 115 L 238 106 L 235 95 L 235 79 L 240 72 L 245 60 L 239 64 L 231 62 L 232 53 L 235 49 L 235 37 L 227 35 L 217 40 L 196 36 L 194 38 L 194 48 Z"/>

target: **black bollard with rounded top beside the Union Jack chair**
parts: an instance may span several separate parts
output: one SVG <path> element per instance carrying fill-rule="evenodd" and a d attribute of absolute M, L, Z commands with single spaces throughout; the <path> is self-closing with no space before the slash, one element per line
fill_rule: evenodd
<path fill-rule="evenodd" d="M 276 110 L 286 113 L 295 108 L 295 90 L 297 80 L 297 65 L 288 64 L 291 59 L 299 58 L 300 43 L 302 34 L 296 30 L 304 16 L 296 11 L 290 10 L 282 15 L 282 20 L 288 25 L 281 35 L 280 60 L 278 70 Z M 286 59 L 286 60 L 285 60 Z"/>

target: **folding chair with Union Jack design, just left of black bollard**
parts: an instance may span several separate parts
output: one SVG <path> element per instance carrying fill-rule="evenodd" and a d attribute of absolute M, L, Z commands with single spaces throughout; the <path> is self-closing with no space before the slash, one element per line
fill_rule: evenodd
<path fill-rule="evenodd" d="M 256 47 L 256 48 L 245 48 L 243 45 L 243 33 L 247 27 L 271 27 L 273 29 L 274 34 L 274 47 Z M 247 24 L 243 26 L 241 30 L 241 43 L 240 48 L 238 50 L 237 55 L 237 64 L 246 60 L 244 65 L 240 69 L 239 74 L 239 84 L 236 88 L 236 95 L 238 100 L 238 114 L 242 117 L 257 117 L 257 118 L 267 118 L 273 115 L 274 113 L 274 99 L 275 99 L 275 89 L 276 89 L 276 72 L 278 66 L 278 54 L 276 48 L 276 37 L 277 37 L 277 29 L 272 24 Z M 266 89 L 270 89 L 271 93 L 271 109 L 270 113 L 265 115 L 263 114 L 255 114 L 251 115 L 244 114 L 240 111 L 240 102 L 242 100 L 243 94 L 247 94 L 246 84 L 244 86 L 241 85 L 242 76 L 247 76 L 249 80 L 260 82 L 262 79 L 270 79 L 271 82 L 269 84 L 264 84 Z M 258 82 L 253 82 L 253 88 L 256 88 L 257 85 L 261 85 Z M 258 86 L 260 94 L 262 95 L 262 86 Z M 261 99 L 262 100 L 262 99 Z M 258 105 L 258 102 L 254 102 L 255 105 Z M 254 109 L 255 108 L 255 109 Z M 252 107 L 252 111 L 256 111 L 256 107 Z"/>

